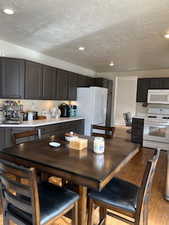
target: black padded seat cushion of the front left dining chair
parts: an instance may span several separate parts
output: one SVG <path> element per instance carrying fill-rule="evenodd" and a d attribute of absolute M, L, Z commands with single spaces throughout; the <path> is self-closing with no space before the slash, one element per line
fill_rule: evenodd
<path fill-rule="evenodd" d="M 40 224 L 46 224 L 52 218 L 58 216 L 69 206 L 75 203 L 79 196 L 73 191 L 55 186 L 48 182 L 39 185 L 39 201 L 40 201 Z M 13 207 L 8 206 L 8 210 L 13 215 L 25 219 L 26 224 L 32 223 L 32 215 Z"/>

